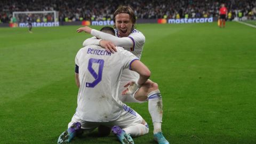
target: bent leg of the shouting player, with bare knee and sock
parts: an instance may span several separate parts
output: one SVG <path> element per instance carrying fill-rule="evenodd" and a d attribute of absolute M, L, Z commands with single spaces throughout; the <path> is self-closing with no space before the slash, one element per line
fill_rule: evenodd
<path fill-rule="evenodd" d="M 169 143 L 162 134 L 163 101 L 157 83 L 148 80 L 135 93 L 134 98 L 140 101 L 148 99 L 148 110 L 154 126 L 154 139 L 158 143 Z"/>

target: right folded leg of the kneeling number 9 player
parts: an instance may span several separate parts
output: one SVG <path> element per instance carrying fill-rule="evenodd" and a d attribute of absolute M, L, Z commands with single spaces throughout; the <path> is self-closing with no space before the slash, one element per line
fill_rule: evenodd
<path fill-rule="evenodd" d="M 124 105 L 121 116 L 111 122 L 112 132 L 121 143 L 134 143 L 132 137 L 147 134 L 149 129 L 145 120 L 129 106 Z"/>

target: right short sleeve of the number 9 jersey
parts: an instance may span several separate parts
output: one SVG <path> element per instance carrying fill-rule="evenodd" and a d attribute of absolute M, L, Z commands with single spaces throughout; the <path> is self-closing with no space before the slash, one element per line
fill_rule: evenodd
<path fill-rule="evenodd" d="M 119 49 L 119 53 L 121 54 L 124 69 L 131 69 L 132 62 L 135 60 L 139 60 L 134 54 L 124 49 Z"/>

